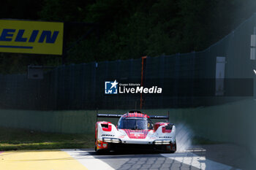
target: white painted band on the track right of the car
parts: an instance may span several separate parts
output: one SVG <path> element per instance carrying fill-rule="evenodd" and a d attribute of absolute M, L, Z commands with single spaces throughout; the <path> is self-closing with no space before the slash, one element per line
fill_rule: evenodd
<path fill-rule="evenodd" d="M 222 163 L 217 163 L 215 161 L 208 160 L 208 159 L 206 159 L 206 157 L 196 155 L 195 153 L 192 153 L 192 152 L 184 152 L 184 153 L 181 152 L 181 153 L 176 153 L 176 154 L 164 153 L 164 154 L 160 154 L 160 155 L 165 156 L 166 158 L 170 158 L 175 161 L 181 162 L 181 163 L 185 163 L 189 166 L 194 166 L 197 169 L 202 169 L 202 170 L 206 170 L 206 169 L 230 170 L 230 169 L 233 169 L 233 170 L 235 170 L 235 168 L 233 168 L 232 166 L 227 166 Z M 236 170 L 241 170 L 241 169 L 236 169 Z"/>

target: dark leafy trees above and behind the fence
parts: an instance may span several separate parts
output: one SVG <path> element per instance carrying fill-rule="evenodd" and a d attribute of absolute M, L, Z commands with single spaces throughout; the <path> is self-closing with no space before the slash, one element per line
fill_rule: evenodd
<path fill-rule="evenodd" d="M 203 50 L 252 15 L 255 0 L 7 0 L 1 18 L 98 23 L 70 26 L 67 64 L 171 55 Z M 78 41 L 80 39 L 80 41 Z M 0 72 L 61 64 L 51 55 L 0 54 Z"/>

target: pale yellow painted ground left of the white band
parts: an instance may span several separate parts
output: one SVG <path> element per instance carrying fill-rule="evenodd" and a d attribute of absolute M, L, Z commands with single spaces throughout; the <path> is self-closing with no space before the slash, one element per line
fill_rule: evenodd
<path fill-rule="evenodd" d="M 61 150 L 12 151 L 0 153 L 1 170 L 87 170 Z"/>

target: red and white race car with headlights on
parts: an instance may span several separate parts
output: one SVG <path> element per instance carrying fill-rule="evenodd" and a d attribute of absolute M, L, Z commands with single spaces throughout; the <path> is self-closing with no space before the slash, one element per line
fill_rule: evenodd
<path fill-rule="evenodd" d="M 107 121 L 95 125 L 95 151 L 146 149 L 176 152 L 176 127 L 173 123 L 153 123 L 151 119 L 169 120 L 169 116 L 148 116 L 140 111 L 124 115 L 97 114 L 97 117 L 120 117 L 115 126 Z"/>

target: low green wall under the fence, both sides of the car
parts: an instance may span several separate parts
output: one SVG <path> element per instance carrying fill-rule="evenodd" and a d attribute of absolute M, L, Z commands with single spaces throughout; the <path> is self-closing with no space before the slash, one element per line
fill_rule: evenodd
<path fill-rule="evenodd" d="M 246 146 L 256 158 L 256 101 L 247 99 L 214 107 L 193 109 L 150 109 L 148 115 L 165 115 L 170 122 L 184 123 L 196 136 L 217 142 L 232 142 Z M 100 113 L 124 113 L 127 110 L 99 110 Z M 26 111 L 0 110 L 0 126 L 28 128 L 57 133 L 94 133 L 94 110 Z M 108 119 L 116 123 L 115 119 Z"/>

